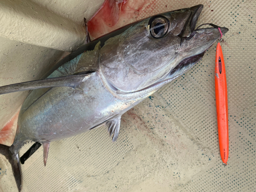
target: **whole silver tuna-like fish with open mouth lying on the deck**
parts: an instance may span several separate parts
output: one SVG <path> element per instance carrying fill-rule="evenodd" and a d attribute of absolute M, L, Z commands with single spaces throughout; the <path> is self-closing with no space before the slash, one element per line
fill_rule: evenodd
<path fill-rule="evenodd" d="M 6 147 L 1 152 L 0 145 L 19 190 L 18 151 L 26 142 L 43 144 L 46 165 L 52 141 L 103 124 L 116 141 L 122 114 L 193 67 L 220 38 L 218 28 L 195 29 L 202 9 L 198 5 L 141 20 L 120 34 L 107 35 L 103 44 L 101 39 L 90 42 L 87 48 L 93 45 L 94 49 L 83 50 L 48 80 L 39 81 L 47 82 L 44 86 L 27 83 L 36 90 L 22 105 L 14 143 L 8 153 Z M 228 29 L 221 31 L 224 34 Z M 74 84 L 77 77 L 81 79 Z M 26 86 L 16 84 L 13 90 L 26 90 Z M 11 92 L 9 88 L 4 89 Z"/>

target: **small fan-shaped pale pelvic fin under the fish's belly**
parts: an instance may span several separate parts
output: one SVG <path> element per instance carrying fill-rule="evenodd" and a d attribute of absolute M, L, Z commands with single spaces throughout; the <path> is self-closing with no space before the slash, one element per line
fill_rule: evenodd
<path fill-rule="evenodd" d="M 115 142 L 119 135 L 120 130 L 120 124 L 121 124 L 121 116 L 115 117 L 114 119 L 111 119 L 106 122 L 106 126 L 108 126 L 108 132 L 110 134 L 110 137 L 112 137 L 112 141 Z"/>

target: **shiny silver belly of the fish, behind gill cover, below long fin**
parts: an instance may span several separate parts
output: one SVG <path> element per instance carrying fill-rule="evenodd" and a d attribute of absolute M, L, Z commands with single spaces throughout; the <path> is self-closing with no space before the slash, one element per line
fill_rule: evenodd
<path fill-rule="evenodd" d="M 71 137 L 120 117 L 142 99 L 144 97 L 115 94 L 98 73 L 92 73 L 80 84 L 79 90 L 52 88 L 29 108 L 22 108 L 18 129 L 23 131 L 19 136 L 40 142 Z M 18 142 L 20 138 L 15 138 L 14 145 L 23 144 Z"/>

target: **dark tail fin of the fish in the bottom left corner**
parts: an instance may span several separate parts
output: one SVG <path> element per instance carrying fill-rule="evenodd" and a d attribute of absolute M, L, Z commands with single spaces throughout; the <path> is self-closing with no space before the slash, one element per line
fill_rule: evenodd
<path fill-rule="evenodd" d="M 10 147 L 12 147 L 12 146 L 10 146 Z M 4 155 L 6 157 L 6 159 L 11 163 L 12 172 L 15 177 L 18 191 L 20 191 L 22 188 L 22 180 L 21 180 L 21 174 L 20 174 L 19 157 L 18 157 L 18 153 L 13 154 L 10 151 L 10 147 L 0 144 L 0 154 Z"/>

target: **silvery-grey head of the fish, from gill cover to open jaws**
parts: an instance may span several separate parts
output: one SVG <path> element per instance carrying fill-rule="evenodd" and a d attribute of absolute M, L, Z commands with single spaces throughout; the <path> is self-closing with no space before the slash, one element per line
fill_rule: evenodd
<path fill-rule="evenodd" d="M 195 29 L 202 9 L 198 5 L 155 15 L 108 39 L 100 50 L 100 73 L 122 93 L 182 75 L 221 37 L 218 26 Z"/>

